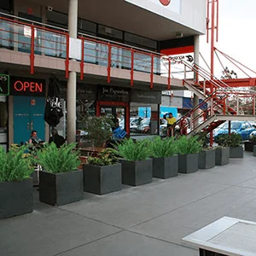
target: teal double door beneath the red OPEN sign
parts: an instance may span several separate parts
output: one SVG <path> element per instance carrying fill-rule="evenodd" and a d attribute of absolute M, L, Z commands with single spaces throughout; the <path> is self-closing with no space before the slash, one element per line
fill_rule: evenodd
<path fill-rule="evenodd" d="M 44 137 L 44 97 L 14 96 L 14 143 L 26 143 L 33 130 Z"/>

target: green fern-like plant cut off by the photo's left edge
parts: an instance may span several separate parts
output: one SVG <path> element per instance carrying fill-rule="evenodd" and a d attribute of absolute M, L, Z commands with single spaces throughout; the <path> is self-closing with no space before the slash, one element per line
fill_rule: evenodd
<path fill-rule="evenodd" d="M 11 147 L 5 153 L 0 147 L 0 182 L 22 181 L 31 177 L 32 157 L 24 157 L 27 147 Z"/>

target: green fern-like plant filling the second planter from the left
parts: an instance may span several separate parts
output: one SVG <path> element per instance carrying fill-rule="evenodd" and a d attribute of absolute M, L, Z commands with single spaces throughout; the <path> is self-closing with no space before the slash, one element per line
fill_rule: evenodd
<path fill-rule="evenodd" d="M 75 143 L 71 143 L 57 148 L 55 143 L 47 144 L 38 150 L 38 164 L 43 166 L 46 172 L 73 172 L 80 165 L 79 152 L 73 151 L 75 146 Z"/>

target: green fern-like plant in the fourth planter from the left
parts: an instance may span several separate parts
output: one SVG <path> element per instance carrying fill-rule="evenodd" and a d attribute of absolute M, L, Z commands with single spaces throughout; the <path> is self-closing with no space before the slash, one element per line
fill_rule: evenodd
<path fill-rule="evenodd" d="M 151 156 L 150 142 L 148 140 L 137 141 L 125 139 L 117 146 L 116 153 L 125 160 L 147 160 Z"/>

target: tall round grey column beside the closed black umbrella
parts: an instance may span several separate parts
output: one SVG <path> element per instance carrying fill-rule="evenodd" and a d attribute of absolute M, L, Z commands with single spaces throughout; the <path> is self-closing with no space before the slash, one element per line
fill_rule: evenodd
<path fill-rule="evenodd" d="M 69 0 L 68 3 L 68 32 L 71 38 L 77 38 L 78 0 Z M 76 141 L 76 92 L 77 73 L 72 71 L 67 79 L 67 143 Z"/>

